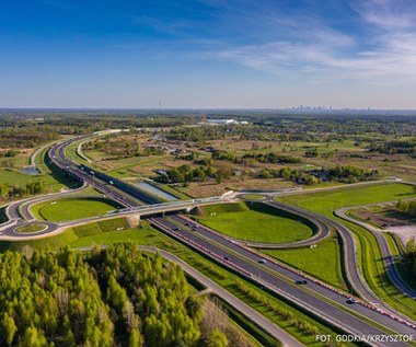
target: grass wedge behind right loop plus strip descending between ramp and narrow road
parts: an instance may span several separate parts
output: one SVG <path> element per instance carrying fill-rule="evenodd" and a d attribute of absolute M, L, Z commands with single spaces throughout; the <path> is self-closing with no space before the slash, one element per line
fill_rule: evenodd
<path fill-rule="evenodd" d="M 359 267 L 370 288 L 394 309 L 416 319 L 416 302 L 402 294 L 390 281 L 375 238 L 366 229 L 344 221 L 333 211 L 349 206 L 367 205 L 413 197 L 412 186 L 380 184 L 319 193 L 307 193 L 278 198 L 280 201 L 333 218 L 349 228 L 357 240 Z"/>

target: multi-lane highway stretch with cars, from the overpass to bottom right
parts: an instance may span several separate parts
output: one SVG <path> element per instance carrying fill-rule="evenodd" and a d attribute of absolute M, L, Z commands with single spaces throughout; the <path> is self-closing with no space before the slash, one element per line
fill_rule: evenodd
<path fill-rule="evenodd" d="M 328 287 L 310 280 L 308 280 L 307 285 L 298 285 L 297 281 L 300 279 L 303 280 L 304 277 L 301 277 L 299 274 L 286 267 L 279 266 L 270 259 L 264 263 L 266 258 L 263 255 L 243 247 L 228 238 L 204 225 L 197 224 L 187 218 L 182 216 L 172 216 L 169 218 L 154 217 L 151 218 L 150 221 L 153 225 L 170 235 L 197 248 L 217 262 L 229 266 L 234 271 L 239 271 L 252 280 L 259 281 L 263 286 L 268 286 L 271 291 L 276 291 L 286 299 L 296 302 L 299 306 L 303 306 L 317 316 L 324 317 L 328 323 L 335 324 L 346 332 L 351 334 L 385 335 L 380 328 L 346 312 L 344 309 L 366 316 L 397 334 L 416 334 L 415 327 L 403 324 L 389 314 L 383 314 L 370 305 L 360 302 L 348 304 L 348 296 L 345 293 L 334 291 Z M 403 344 L 403 346 L 405 344 Z M 380 344 L 377 346 L 393 345 Z"/>

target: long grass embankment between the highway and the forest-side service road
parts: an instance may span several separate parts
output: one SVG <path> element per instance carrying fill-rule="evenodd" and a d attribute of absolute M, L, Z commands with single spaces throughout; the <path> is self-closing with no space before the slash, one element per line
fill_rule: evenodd
<path fill-rule="evenodd" d="M 117 231 L 119 228 L 125 228 L 125 230 Z M 337 332 L 319 323 L 315 319 L 300 311 L 300 309 L 292 308 L 287 302 L 266 293 L 263 289 L 242 279 L 234 273 L 224 269 L 199 253 L 189 250 L 183 244 L 150 228 L 146 221 L 141 221 L 139 227 L 129 229 L 127 219 L 118 218 L 71 228 L 61 234 L 46 239 L 25 242 L 4 241 L 0 242 L 0 252 L 7 250 L 20 251 L 25 245 L 33 248 L 48 247 L 50 250 L 57 250 L 65 245 L 78 248 L 91 245 L 113 244 L 123 241 L 132 241 L 138 244 L 157 246 L 177 255 L 205 276 L 224 287 L 246 304 L 264 314 L 271 322 L 286 329 L 304 345 L 324 346 L 322 343 L 316 342 L 315 334 L 332 334 L 335 338 Z M 265 344 L 265 346 L 267 346 L 267 344 Z"/>

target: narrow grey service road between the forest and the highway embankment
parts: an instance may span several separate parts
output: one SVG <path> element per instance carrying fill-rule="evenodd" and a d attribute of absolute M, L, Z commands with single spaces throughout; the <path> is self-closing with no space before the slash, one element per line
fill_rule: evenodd
<path fill-rule="evenodd" d="M 105 246 L 103 245 L 102 247 L 105 247 Z M 86 247 L 74 248 L 74 251 L 91 251 L 92 248 L 93 248 L 92 246 L 86 246 Z M 139 250 L 143 252 L 149 252 L 149 253 L 159 252 L 161 256 L 163 256 L 165 259 L 176 263 L 184 269 L 186 274 L 195 278 L 206 288 L 209 288 L 210 292 L 217 294 L 219 298 L 221 298 L 222 300 L 231 304 L 234 309 L 243 313 L 246 317 L 249 317 L 259 327 L 265 329 L 273 337 L 281 340 L 285 346 L 288 346 L 288 347 L 303 347 L 304 346 L 300 342 L 298 342 L 294 337 L 292 337 L 287 332 L 285 332 L 281 327 L 271 323 L 269 320 L 264 317 L 257 311 L 249 306 L 246 303 L 244 303 L 240 299 L 235 298 L 233 294 L 231 294 L 229 291 L 227 291 L 222 287 L 218 286 L 215 281 L 210 280 L 208 277 L 206 277 L 205 275 L 199 273 L 197 269 L 195 269 L 194 267 L 192 267 L 190 265 L 182 261 L 176 255 L 173 255 L 172 253 L 167 251 L 148 247 L 148 246 L 139 246 Z"/>

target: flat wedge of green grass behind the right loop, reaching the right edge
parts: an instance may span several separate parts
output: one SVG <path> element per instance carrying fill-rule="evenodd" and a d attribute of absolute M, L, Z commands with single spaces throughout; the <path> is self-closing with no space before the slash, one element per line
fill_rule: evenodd
<path fill-rule="evenodd" d="M 276 199 L 332 217 L 333 211 L 342 207 L 398 200 L 414 196 L 416 194 L 409 185 L 386 183 L 297 194 Z"/>

